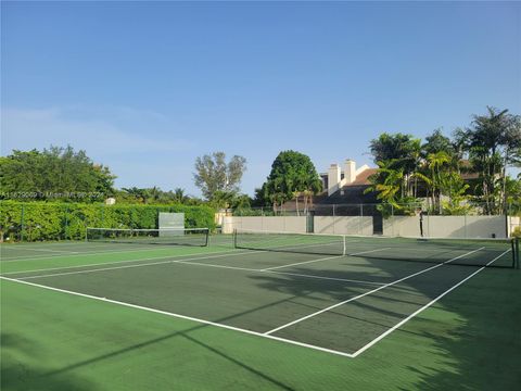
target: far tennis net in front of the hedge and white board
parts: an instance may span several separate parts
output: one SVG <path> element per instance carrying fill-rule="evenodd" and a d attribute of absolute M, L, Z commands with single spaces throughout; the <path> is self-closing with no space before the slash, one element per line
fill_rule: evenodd
<path fill-rule="evenodd" d="M 118 229 L 87 228 L 90 242 L 130 244 L 208 245 L 208 228 Z"/>

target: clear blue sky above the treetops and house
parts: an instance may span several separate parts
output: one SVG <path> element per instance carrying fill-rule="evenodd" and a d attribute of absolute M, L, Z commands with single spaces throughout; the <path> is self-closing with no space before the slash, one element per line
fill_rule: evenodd
<path fill-rule="evenodd" d="M 72 144 L 118 187 L 193 185 L 196 156 L 372 164 L 382 131 L 521 114 L 519 2 L 2 2 L 1 153 Z"/>

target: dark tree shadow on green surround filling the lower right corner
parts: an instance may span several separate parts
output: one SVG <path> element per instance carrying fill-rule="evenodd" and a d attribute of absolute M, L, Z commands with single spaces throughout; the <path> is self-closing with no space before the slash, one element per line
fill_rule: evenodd
<path fill-rule="evenodd" d="M 486 269 L 436 305 L 450 314 L 445 328 L 422 333 L 434 341 L 445 370 L 409 365 L 419 390 L 519 390 L 521 371 L 521 273 Z M 436 321 L 440 311 L 427 314 Z M 429 354 L 430 352 L 425 352 Z M 405 390 L 405 389 L 404 389 Z"/>

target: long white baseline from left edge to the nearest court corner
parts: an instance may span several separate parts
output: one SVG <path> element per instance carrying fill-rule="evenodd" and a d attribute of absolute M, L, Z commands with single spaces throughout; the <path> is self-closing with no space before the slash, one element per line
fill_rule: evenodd
<path fill-rule="evenodd" d="M 91 295 L 91 294 L 78 293 L 78 292 L 68 291 L 68 290 L 65 290 L 65 289 L 52 288 L 52 287 L 48 287 L 48 286 L 43 286 L 43 285 L 39 285 L 39 283 L 22 281 L 22 280 L 14 279 L 14 278 L 8 278 L 8 277 L 0 276 L 0 279 L 4 279 L 4 280 L 8 280 L 8 281 L 17 282 L 17 283 L 25 283 L 25 285 L 28 285 L 28 286 L 33 286 L 33 287 L 37 287 L 37 288 L 41 288 L 41 289 L 48 289 L 48 290 L 52 290 L 52 291 L 56 291 L 56 292 L 61 292 L 61 293 L 73 294 L 73 295 L 77 295 L 77 297 L 81 297 L 81 298 L 86 298 L 86 299 L 98 300 L 98 301 L 102 301 L 102 302 L 106 302 L 106 303 L 111 303 L 111 304 L 123 305 L 123 306 L 130 307 L 130 308 L 148 311 L 148 312 L 152 312 L 152 313 L 156 313 L 156 314 L 161 314 L 161 315 L 173 316 L 173 317 L 180 318 L 180 319 L 192 320 L 192 321 L 196 321 L 196 323 L 200 323 L 200 324 L 203 324 L 203 325 L 209 325 L 209 326 L 220 327 L 220 328 L 228 329 L 228 330 L 240 331 L 240 332 L 244 332 L 244 333 L 247 333 L 247 335 L 251 335 L 251 336 L 256 336 L 256 337 L 260 337 L 260 338 L 268 338 L 268 339 L 271 339 L 271 340 L 281 341 L 281 342 L 285 342 L 285 343 L 290 343 L 290 344 L 294 344 L 294 345 L 298 345 L 298 346 L 303 346 L 303 348 L 308 348 L 308 349 L 313 349 L 313 350 L 317 350 L 317 351 L 321 351 L 321 352 L 326 352 L 326 353 L 332 353 L 332 354 L 341 355 L 341 356 L 344 356 L 344 357 L 353 357 L 353 355 L 350 354 L 350 353 L 344 353 L 344 352 L 335 351 L 335 350 L 332 350 L 332 349 L 316 346 L 316 345 L 312 345 L 312 344 L 308 344 L 308 343 L 293 341 L 293 340 L 281 338 L 281 337 L 265 336 L 264 333 L 258 332 L 258 331 L 242 329 L 242 328 L 239 328 L 239 327 L 228 326 L 228 325 L 225 325 L 225 324 L 218 324 L 218 323 L 215 323 L 215 321 L 204 320 L 204 319 L 195 318 L 195 317 L 192 317 L 192 316 L 169 313 L 169 312 L 166 312 L 166 311 L 150 308 L 150 307 L 136 305 L 136 304 L 130 304 L 130 303 L 125 303 L 125 302 L 120 302 L 120 301 L 112 300 L 112 299 L 106 299 L 106 298 L 99 298 L 99 297 L 94 297 L 94 295 Z"/>

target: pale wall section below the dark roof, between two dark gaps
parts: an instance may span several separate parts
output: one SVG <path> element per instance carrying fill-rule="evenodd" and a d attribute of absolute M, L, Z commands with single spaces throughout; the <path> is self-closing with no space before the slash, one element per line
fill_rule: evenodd
<path fill-rule="evenodd" d="M 340 235 L 372 235 L 371 216 L 315 216 L 315 232 Z"/>

